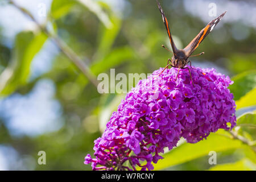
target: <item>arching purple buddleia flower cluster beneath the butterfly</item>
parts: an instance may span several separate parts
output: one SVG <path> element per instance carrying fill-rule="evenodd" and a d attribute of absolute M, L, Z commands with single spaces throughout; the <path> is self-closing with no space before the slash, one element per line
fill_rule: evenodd
<path fill-rule="evenodd" d="M 235 102 L 229 77 L 214 69 L 159 70 L 140 80 L 112 114 L 101 138 L 94 141 L 94 156 L 85 164 L 93 170 L 152 170 L 180 137 L 189 143 L 207 138 L 218 129 L 236 125 Z M 227 125 L 229 123 L 229 125 Z"/>

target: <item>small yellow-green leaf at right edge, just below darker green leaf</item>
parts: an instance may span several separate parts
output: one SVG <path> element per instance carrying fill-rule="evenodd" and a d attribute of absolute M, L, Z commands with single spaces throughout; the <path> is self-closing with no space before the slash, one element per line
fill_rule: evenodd
<path fill-rule="evenodd" d="M 236 101 L 236 105 L 236 109 L 256 105 L 256 87 Z"/>

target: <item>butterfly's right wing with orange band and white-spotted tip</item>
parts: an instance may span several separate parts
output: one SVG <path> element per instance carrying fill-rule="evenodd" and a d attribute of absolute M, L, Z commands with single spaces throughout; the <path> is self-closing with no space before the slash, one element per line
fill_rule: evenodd
<path fill-rule="evenodd" d="M 225 15 L 226 11 L 222 13 L 217 18 L 213 19 L 210 23 L 207 24 L 205 28 L 203 28 L 199 34 L 188 44 L 187 47 L 183 49 L 186 56 L 191 56 L 191 54 L 195 51 L 195 49 L 199 46 L 199 44 L 204 40 L 204 38 L 213 30 L 213 28 L 220 22 L 221 18 Z"/>

